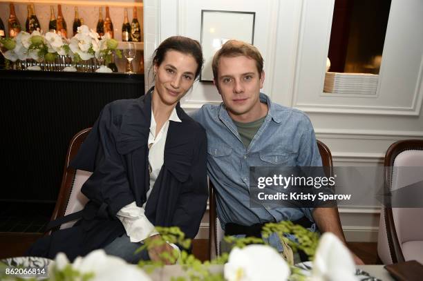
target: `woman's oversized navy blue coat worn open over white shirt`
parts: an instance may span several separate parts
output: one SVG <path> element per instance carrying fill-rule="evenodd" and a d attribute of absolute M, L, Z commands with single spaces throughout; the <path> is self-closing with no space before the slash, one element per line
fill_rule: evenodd
<path fill-rule="evenodd" d="M 73 260 L 126 233 L 116 213 L 133 201 L 138 206 L 147 201 L 152 90 L 104 107 L 71 162 L 93 172 L 82 186 L 90 199 L 82 219 L 39 240 L 29 255 L 54 258 L 63 251 Z M 164 163 L 144 209 L 153 225 L 178 226 L 187 238 L 194 238 L 207 205 L 207 137 L 179 103 L 176 113 L 182 122 L 169 122 Z"/>

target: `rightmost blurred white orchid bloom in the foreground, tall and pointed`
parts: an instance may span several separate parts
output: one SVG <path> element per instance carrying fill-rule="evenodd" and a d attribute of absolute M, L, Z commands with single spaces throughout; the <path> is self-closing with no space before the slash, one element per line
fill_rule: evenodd
<path fill-rule="evenodd" d="M 312 280 L 358 280 L 350 251 L 333 233 L 323 233 L 319 240 L 313 260 Z"/>

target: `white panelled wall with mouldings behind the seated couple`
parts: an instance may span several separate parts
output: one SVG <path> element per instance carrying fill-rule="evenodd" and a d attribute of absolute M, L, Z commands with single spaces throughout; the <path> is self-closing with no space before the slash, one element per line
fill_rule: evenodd
<path fill-rule="evenodd" d="M 306 111 L 338 166 L 380 166 L 398 139 L 423 138 L 423 1 L 392 0 L 379 86 L 373 97 L 325 95 L 323 79 L 335 0 L 145 0 L 144 52 L 163 39 L 200 41 L 201 10 L 256 12 L 254 45 L 265 59 L 263 92 Z M 147 48 L 147 46 L 149 46 Z M 196 82 L 182 106 L 199 108 L 220 97 Z M 353 179 L 352 179 L 353 180 Z M 347 240 L 375 241 L 379 206 L 340 206 Z M 207 221 L 202 224 L 205 237 Z"/>

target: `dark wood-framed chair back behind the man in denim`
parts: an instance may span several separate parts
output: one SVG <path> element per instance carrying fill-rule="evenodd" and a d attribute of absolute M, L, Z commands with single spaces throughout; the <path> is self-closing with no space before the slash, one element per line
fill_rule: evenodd
<path fill-rule="evenodd" d="M 321 156 L 321 162 L 328 176 L 333 175 L 332 153 L 326 144 L 317 140 L 317 147 Z M 223 229 L 216 213 L 216 191 L 212 181 L 209 180 L 209 253 L 210 259 L 220 255 L 220 241 L 223 239 Z"/>

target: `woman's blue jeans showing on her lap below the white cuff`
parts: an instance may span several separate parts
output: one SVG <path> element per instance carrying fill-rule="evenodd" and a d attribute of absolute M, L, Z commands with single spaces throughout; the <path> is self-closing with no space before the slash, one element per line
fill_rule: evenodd
<path fill-rule="evenodd" d="M 104 251 L 108 255 L 115 255 L 126 260 L 126 262 L 137 264 L 140 260 L 150 260 L 147 249 L 135 253 L 140 246 L 142 246 L 142 243 L 133 243 L 129 240 L 129 236 L 124 234 L 105 246 Z"/>

